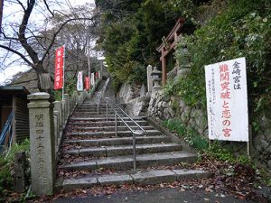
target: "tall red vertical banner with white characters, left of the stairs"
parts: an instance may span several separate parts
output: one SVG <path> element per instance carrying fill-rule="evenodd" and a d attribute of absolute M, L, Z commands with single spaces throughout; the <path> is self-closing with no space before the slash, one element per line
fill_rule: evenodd
<path fill-rule="evenodd" d="M 54 89 L 63 87 L 63 58 L 64 47 L 61 46 L 55 51 Z"/>

